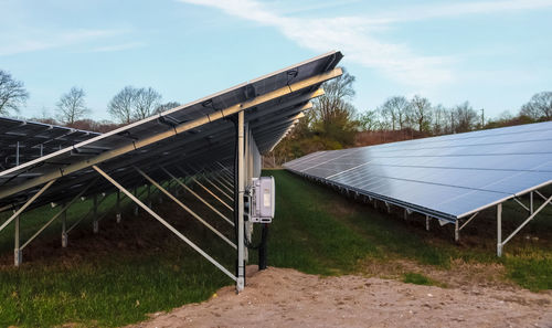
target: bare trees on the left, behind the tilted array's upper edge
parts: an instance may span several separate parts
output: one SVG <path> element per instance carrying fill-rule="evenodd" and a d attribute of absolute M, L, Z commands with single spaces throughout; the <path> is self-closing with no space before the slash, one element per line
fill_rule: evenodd
<path fill-rule="evenodd" d="M 29 92 L 23 82 L 15 80 L 7 71 L 0 70 L 0 115 L 20 113 L 26 104 Z M 73 86 L 60 96 L 55 103 L 55 117 L 33 118 L 49 124 L 62 124 L 68 127 L 106 131 L 121 124 L 129 124 L 156 113 L 180 106 L 177 102 L 162 103 L 162 96 L 152 87 L 125 86 L 108 103 L 110 120 L 95 121 L 89 118 L 92 109 L 86 104 L 86 93 L 82 87 Z"/>

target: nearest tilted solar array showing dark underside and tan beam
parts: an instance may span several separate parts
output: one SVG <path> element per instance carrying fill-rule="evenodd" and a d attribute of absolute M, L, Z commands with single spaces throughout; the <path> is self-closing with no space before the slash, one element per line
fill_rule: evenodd
<path fill-rule="evenodd" d="M 135 166 L 156 178 L 164 174 L 159 170 L 161 165 L 202 168 L 215 160 L 232 162 L 235 125 L 234 118 L 224 113 L 237 113 L 240 108 L 246 108 L 245 123 L 259 152 L 266 152 L 293 126 L 309 100 L 321 94 L 321 83 L 338 76 L 335 67 L 341 57 L 340 52 L 330 52 L 79 144 L 64 144 L 53 154 L 4 169 L 0 171 L 0 209 L 21 204 L 53 179 L 57 180 L 33 207 L 68 200 L 75 190 L 98 177 L 92 169 L 94 163 L 131 188 L 145 182 Z M 221 115 L 223 118 L 219 119 Z M 178 129 L 182 131 L 177 133 Z M 114 187 L 99 179 L 87 193 L 110 190 Z"/>

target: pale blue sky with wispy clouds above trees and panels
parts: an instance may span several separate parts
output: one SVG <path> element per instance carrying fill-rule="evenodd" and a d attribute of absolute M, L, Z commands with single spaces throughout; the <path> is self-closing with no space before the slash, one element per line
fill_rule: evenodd
<path fill-rule="evenodd" d="M 126 85 L 188 103 L 332 50 L 359 112 L 416 94 L 487 117 L 552 91 L 552 0 L 0 0 L 0 70 L 19 116 L 82 87 L 94 119 Z"/>

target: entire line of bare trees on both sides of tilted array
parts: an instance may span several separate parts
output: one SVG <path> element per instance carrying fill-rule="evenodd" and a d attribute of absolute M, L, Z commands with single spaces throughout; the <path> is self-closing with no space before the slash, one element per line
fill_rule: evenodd
<path fill-rule="evenodd" d="M 434 105 L 421 95 L 412 98 L 392 96 L 374 109 L 359 113 L 352 105 L 355 77 L 343 74 L 323 84 L 325 94 L 312 100 L 314 106 L 273 151 L 275 162 L 323 149 L 341 149 L 410 138 L 466 133 L 508 125 L 552 119 L 552 92 L 534 94 L 518 114 L 502 114 L 486 118 L 482 109 L 475 109 L 469 102 L 453 107 Z M 21 81 L 0 70 L 0 115 L 12 115 L 25 105 L 29 92 Z M 92 109 L 86 105 L 86 93 L 72 87 L 55 104 L 55 118 L 33 118 L 50 124 L 96 130 L 114 129 L 177 107 L 177 102 L 162 103 L 160 93 L 151 87 L 125 86 L 107 105 L 113 121 L 89 119 Z"/>

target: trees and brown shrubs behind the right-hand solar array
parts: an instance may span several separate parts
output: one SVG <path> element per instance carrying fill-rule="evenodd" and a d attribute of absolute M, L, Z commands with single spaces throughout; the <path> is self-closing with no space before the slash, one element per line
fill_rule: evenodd
<path fill-rule="evenodd" d="M 446 107 L 421 95 L 391 96 L 374 109 L 359 113 L 351 104 L 354 76 L 343 75 L 323 84 L 294 130 L 267 156 L 265 165 L 279 166 L 304 155 L 329 149 L 368 146 L 412 138 L 467 133 L 552 119 L 552 92 L 534 94 L 516 115 L 485 117 L 469 102 Z"/>

